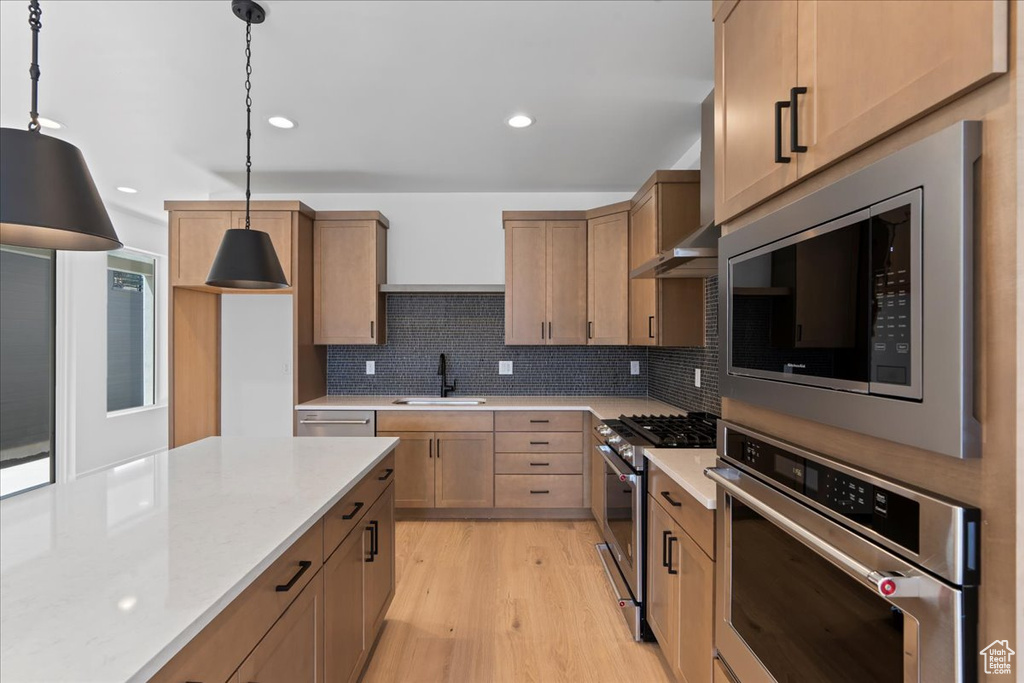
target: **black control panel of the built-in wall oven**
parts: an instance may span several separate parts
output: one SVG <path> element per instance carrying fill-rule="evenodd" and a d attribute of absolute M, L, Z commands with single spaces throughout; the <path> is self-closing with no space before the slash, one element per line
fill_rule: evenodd
<path fill-rule="evenodd" d="M 803 458 L 746 434 L 729 432 L 726 453 L 769 478 L 847 519 L 916 553 L 921 509 L 916 501 Z"/>

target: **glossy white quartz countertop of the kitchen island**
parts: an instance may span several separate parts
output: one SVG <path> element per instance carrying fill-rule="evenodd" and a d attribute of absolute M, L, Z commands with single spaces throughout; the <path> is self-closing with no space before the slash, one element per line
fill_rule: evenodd
<path fill-rule="evenodd" d="M 148 679 L 396 443 L 214 437 L 0 502 L 0 680 Z"/>

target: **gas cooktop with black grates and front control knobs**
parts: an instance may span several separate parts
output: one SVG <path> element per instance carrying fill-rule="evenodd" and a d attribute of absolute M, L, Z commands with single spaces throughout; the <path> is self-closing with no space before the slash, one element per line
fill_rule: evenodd
<path fill-rule="evenodd" d="M 714 449 L 717 423 L 711 413 L 623 415 L 604 420 L 597 431 L 627 465 L 640 471 L 644 449 Z"/>

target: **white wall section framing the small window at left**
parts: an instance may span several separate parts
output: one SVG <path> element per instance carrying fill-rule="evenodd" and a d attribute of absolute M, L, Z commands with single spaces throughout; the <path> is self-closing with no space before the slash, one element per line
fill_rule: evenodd
<path fill-rule="evenodd" d="M 157 257 L 156 403 L 106 414 L 106 252 L 58 252 L 58 481 L 167 447 L 167 224 L 108 211 L 125 247 Z"/>

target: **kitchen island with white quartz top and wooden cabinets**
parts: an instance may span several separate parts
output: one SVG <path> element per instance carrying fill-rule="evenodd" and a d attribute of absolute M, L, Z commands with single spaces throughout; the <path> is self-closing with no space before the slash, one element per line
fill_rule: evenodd
<path fill-rule="evenodd" d="M 207 667 L 217 675 L 226 668 L 216 679 L 226 680 L 239 666 L 260 664 L 250 661 L 260 640 L 317 582 L 318 661 L 327 649 L 339 667 L 361 666 L 373 644 L 364 621 L 375 636 L 393 595 L 393 498 L 384 492 L 393 492 L 396 443 L 213 437 L 3 501 L 0 679 L 176 680 L 170 670 Z M 356 516 L 349 499 L 364 494 L 379 505 L 358 501 Z M 379 528 L 354 528 L 375 508 Z M 325 648 L 322 633 L 339 614 L 319 567 L 339 544 L 339 553 L 353 545 L 345 535 L 355 541 L 357 570 L 375 553 L 392 562 L 389 578 L 368 580 L 378 613 L 343 615 L 359 622 L 341 632 L 358 632 L 354 653 Z M 239 615 L 244 628 L 229 623 Z"/>

